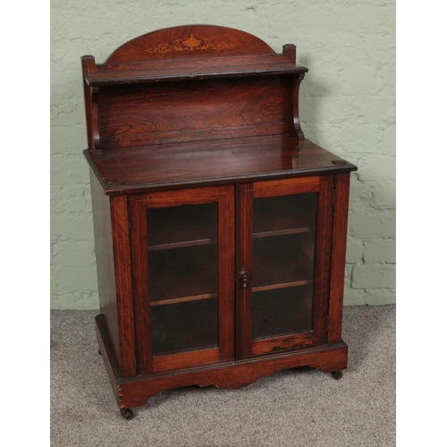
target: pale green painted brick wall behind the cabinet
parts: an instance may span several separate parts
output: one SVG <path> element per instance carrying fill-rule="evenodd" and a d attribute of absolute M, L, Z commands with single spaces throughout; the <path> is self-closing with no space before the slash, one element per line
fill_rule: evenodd
<path fill-rule="evenodd" d="M 297 46 L 306 137 L 358 165 L 351 174 L 345 304 L 395 302 L 395 2 L 66 0 L 51 11 L 52 308 L 98 308 L 80 56 L 207 23 L 278 53 Z"/>

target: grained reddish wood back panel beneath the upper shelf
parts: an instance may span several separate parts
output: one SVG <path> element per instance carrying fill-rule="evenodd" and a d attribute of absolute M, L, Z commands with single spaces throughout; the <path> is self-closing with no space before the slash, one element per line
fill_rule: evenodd
<path fill-rule="evenodd" d="M 283 104 L 280 79 L 105 87 L 98 95 L 101 148 L 283 133 Z"/>

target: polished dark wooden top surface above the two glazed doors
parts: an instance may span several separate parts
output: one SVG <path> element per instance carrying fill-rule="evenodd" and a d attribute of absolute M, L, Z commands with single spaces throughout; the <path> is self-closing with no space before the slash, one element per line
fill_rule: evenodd
<path fill-rule="evenodd" d="M 357 170 L 308 139 L 289 135 L 86 149 L 84 155 L 110 195 Z"/>

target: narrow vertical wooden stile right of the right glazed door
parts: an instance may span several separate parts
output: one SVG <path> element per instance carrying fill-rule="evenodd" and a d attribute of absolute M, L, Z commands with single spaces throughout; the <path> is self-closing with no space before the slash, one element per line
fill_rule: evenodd
<path fill-rule="evenodd" d="M 335 175 L 333 198 L 333 249 L 331 259 L 331 285 L 329 291 L 329 325 L 327 342 L 342 340 L 342 312 L 346 241 L 348 232 L 348 208 L 350 173 Z"/>

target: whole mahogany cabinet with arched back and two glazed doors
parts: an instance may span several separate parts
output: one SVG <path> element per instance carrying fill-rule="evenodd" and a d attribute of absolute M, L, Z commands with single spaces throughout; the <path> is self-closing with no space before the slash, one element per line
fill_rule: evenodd
<path fill-rule="evenodd" d="M 191 25 L 82 57 L 97 341 L 127 419 L 165 389 L 347 367 L 357 167 L 304 138 L 295 51 Z"/>

